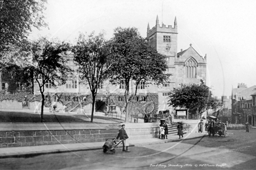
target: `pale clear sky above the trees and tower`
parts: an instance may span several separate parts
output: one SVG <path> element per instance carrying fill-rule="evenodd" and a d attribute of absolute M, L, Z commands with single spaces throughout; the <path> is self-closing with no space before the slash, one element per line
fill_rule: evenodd
<path fill-rule="evenodd" d="M 75 43 L 79 33 L 136 27 L 142 37 L 147 26 L 174 25 L 177 18 L 178 52 L 193 48 L 207 55 L 207 85 L 214 96 L 230 96 L 239 83 L 256 85 L 256 1 L 247 0 L 48 0 L 47 28 L 33 30 L 30 38 L 59 38 Z"/>

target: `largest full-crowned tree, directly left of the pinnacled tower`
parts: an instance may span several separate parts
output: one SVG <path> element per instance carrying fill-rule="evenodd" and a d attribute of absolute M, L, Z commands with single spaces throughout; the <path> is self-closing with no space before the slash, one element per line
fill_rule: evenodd
<path fill-rule="evenodd" d="M 147 39 L 142 38 L 137 28 L 118 27 L 114 31 L 111 39 L 112 64 L 109 75 L 114 82 L 124 82 L 125 84 L 125 122 L 129 119 L 127 105 L 136 97 L 137 88 L 141 81 L 161 83 L 168 79 L 168 74 L 164 74 L 168 68 L 165 56 L 159 54 L 148 44 Z M 129 82 L 136 83 L 134 97 L 130 99 Z"/>

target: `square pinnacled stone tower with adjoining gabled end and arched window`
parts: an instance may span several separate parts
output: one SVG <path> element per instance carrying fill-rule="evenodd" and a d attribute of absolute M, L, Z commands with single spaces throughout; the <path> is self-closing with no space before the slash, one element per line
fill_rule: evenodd
<path fill-rule="evenodd" d="M 172 110 L 168 107 L 168 92 L 173 88 L 179 88 L 180 84 L 200 84 L 207 79 L 207 57 L 202 57 L 190 44 L 186 50 L 177 52 L 177 19 L 175 17 L 174 26 L 160 26 L 157 16 L 156 24 L 150 29 L 147 27 L 147 38 L 150 44 L 159 53 L 166 56 L 168 64 L 167 72 L 172 74 L 169 84 L 158 88 L 159 110 Z"/>

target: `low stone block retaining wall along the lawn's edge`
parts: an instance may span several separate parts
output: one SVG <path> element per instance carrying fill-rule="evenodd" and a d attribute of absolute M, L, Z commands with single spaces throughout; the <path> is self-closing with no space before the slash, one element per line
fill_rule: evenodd
<path fill-rule="evenodd" d="M 118 135 L 119 124 L 0 124 L 0 147 L 105 142 Z M 156 138 L 158 126 L 126 124 L 131 140 Z"/>

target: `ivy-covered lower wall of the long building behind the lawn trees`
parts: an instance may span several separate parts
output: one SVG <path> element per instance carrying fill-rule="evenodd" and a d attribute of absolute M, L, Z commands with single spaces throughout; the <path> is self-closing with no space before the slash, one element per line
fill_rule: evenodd
<path fill-rule="evenodd" d="M 134 96 L 130 96 L 129 101 Z M 41 102 L 41 95 L 33 95 L 31 93 L 15 93 L 6 94 L 4 91 L 0 92 L 0 102 L 3 100 L 11 100 L 23 102 L 26 99 L 29 102 Z M 51 107 L 52 103 L 59 102 L 66 106 L 66 110 L 73 110 L 81 108 L 93 103 L 91 95 L 77 95 L 77 93 L 47 93 L 45 94 L 45 107 Z M 128 105 L 129 113 L 137 114 L 156 114 L 158 111 L 158 94 L 157 93 L 142 93 L 136 95 L 136 101 L 130 102 Z M 112 93 L 104 95 L 99 93 L 96 100 L 105 102 L 106 106 L 117 106 L 122 112 L 125 107 L 125 97 L 122 94 Z"/>

